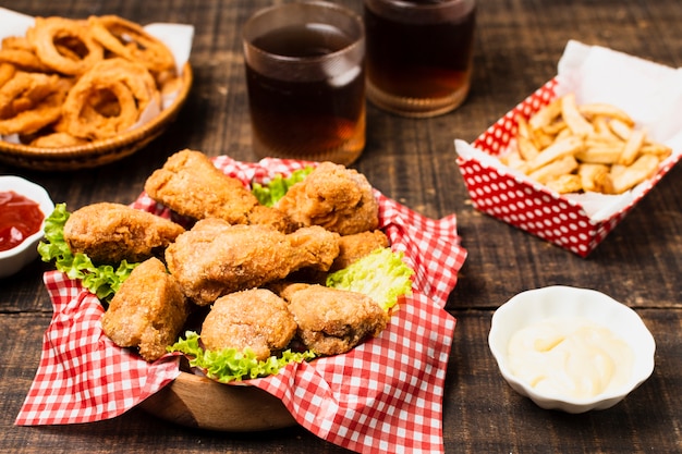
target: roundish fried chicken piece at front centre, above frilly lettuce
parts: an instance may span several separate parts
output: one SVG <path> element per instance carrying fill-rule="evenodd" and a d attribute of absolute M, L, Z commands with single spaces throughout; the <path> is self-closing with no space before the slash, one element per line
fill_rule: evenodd
<path fill-rule="evenodd" d="M 221 296 L 202 326 L 202 341 L 210 351 L 251 348 L 259 360 L 283 349 L 296 333 L 287 303 L 265 289 Z"/>

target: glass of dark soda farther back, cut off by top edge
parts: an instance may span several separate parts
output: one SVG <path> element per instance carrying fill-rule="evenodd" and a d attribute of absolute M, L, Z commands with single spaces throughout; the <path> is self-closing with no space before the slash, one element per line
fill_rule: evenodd
<path fill-rule="evenodd" d="M 365 0 L 364 14 L 373 102 L 407 116 L 431 116 L 464 100 L 472 72 L 473 1 Z"/>

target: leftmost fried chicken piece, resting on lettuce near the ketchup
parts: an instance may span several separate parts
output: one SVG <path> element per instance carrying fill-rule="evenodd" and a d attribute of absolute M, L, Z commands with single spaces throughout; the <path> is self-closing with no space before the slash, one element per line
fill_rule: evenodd
<path fill-rule="evenodd" d="M 182 225 L 150 212 L 99 203 L 71 213 L 64 224 L 64 240 L 74 254 L 83 253 L 94 262 L 137 262 L 161 254 L 184 231 Z"/>

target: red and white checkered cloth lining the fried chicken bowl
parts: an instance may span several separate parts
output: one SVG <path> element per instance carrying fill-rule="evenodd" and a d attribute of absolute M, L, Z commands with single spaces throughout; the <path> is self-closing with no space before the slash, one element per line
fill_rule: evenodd
<path fill-rule="evenodd" d="M 215 159 L 248 185 L 305 162 Z M 376 192 L 380 228 L 415 270 L 414 294 L 399 302 L 387 329 L 351 352 L 288 366 L 248 380 L 279 397 L 296 421 L 360 453 L 441 453 L 442 397 L 455 320 L 444 310 L 466 251 L 454 214 L 431 220 Z M 170 216 L 145 194 L 133 207 Z M 16 425 L 89 422 L 123 414 L 171 382 L 176 357 L 148 364 L 102 333 L 99 300 L 60 272 L 45 274 L 54 316 Z M 230 385 L 230 384 L 226 384 Z"/>

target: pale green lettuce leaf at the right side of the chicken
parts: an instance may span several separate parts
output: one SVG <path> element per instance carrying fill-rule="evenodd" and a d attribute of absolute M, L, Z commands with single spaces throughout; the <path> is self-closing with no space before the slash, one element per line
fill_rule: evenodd
<path fill-rule="evenodd" d="M 414 271 L 403 261 L 403 253 L 379 248 L 348 268 L 327 277 L 327 286 L 369 296 L 383 310 L 395 306 L 402 295 L 412 294 Z"/>

